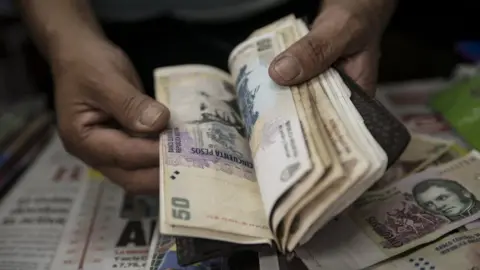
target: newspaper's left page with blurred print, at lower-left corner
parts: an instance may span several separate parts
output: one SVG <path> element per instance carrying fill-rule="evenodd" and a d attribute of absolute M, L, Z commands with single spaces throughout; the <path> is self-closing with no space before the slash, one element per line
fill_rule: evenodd
<path fill-rule="evenodd" d="M 0 204 L 0 270 L 49 270 L 87 167 L 55 134 Z"/>

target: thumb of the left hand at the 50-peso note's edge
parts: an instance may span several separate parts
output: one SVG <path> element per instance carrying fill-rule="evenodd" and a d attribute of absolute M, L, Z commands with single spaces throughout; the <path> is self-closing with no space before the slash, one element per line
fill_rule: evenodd
<path fill-rule="evenodd" d="M 109 112 L 123 127 L 134 132 L 158 132 L 170 117 L 167 107 L 125 83 L 107 97 Z"/>

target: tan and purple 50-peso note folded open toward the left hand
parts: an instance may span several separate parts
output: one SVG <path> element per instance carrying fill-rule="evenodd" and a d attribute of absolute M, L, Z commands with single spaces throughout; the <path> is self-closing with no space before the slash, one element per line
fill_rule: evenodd
<path fill-rule="evenodd" d="M 160 138 L 160 230 L 252 242 L 271 239 L 232 82 L 205 66 L 155 71 L 171 110 Z"/>

